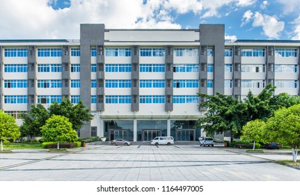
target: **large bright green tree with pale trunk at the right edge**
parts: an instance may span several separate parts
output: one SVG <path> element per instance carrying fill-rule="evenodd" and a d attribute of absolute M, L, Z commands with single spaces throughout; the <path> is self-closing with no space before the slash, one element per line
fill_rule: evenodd
<path fill-rule="evenodd" d="M 300 104 L 275 111 L 274 116 L 267 120 L 269 141 L 291 146 L 292 158 L 297 162 L 300 146 Z"/>

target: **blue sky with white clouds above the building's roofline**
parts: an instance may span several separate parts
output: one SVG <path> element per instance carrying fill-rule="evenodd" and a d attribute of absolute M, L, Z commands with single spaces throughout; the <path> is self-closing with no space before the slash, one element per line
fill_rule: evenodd
<path fill-rule="evenodd" d="M 300 40 L 300 0 L 0 0 L 0 39 L 79 39 L 79 24 L 107 29 L 198 29 L 226 39 Z"/>

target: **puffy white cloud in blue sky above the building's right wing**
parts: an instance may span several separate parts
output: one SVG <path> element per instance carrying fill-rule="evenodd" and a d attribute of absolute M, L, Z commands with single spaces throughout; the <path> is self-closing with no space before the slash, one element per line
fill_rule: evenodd
<path fill-rule="evenodd" d="M 285 27 L 285 22 L 278 22 L 276 17 L 269 15 L 262 15 L 261 13 L 256 12 L 253 16 L 253 27 L 262 26 L 265 36 L 269 38 L 279 38 L 279 34 L 283 31 Z"/>

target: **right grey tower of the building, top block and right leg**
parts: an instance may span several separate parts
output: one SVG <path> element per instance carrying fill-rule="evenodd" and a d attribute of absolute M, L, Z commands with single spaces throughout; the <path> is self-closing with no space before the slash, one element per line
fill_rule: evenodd
<path fill-rule="evenodd" d="M 200 24 L 199 28 L 200 45 L 214 48 L 214 94 L 224 94 L 224 25 Z"/>

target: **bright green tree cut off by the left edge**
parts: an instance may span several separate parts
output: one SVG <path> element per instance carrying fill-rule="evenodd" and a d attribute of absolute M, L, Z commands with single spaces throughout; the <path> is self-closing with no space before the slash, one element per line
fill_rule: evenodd
<path fill-rule="evenodd" d="M 3 150 L 3 141 L 10 139 L 17 139 L 20 136 L 19 127 L 15 123 L 15 118 L 8 114 L 5 114 L 0 110 L 0 140 L 1 151 Z"/>

